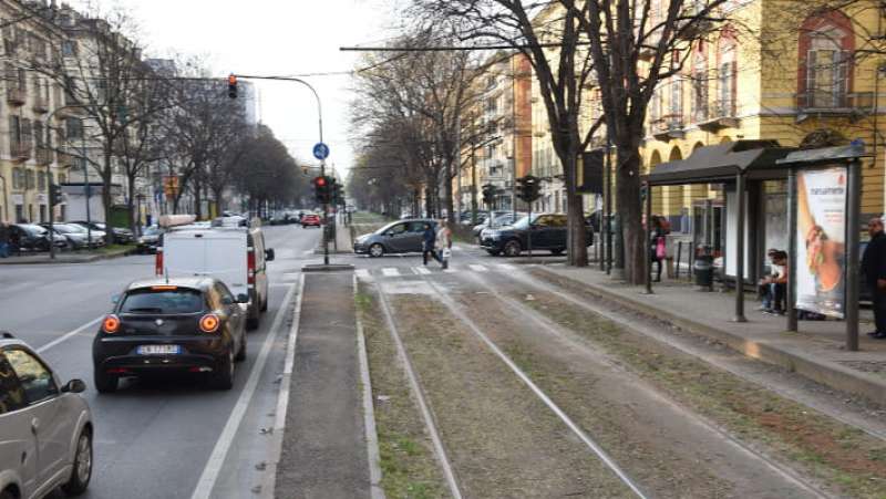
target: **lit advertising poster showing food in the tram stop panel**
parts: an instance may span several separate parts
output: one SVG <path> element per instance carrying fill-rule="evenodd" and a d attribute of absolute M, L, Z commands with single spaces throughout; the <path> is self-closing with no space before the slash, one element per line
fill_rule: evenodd
<path fill-rule="evenodd" d="M 843 319 L 846 302 L 846 168 L 797 171 L 796 303 Z"/>

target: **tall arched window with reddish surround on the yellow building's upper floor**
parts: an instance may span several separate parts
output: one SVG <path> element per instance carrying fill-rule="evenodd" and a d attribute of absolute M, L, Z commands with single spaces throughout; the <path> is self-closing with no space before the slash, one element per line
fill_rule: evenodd
<path fill-rule="evenodd" d="M 839 11 L 811 17 L 800 31 L 797 104 L 801 108 L 847 107 L 855 35 Z"/>

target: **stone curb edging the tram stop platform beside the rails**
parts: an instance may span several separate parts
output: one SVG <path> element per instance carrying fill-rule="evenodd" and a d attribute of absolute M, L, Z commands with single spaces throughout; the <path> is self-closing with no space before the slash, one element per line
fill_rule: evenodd
<path fill-rule="evenodd" d="M 877 404 L 886 405 L 886 378 L 879 380 L 874 375 L 856 372 L 834 362 L 823 362 L 802 352 L 780 349 L 767 343 L 748 340 L 739 334 L 712 328 L 673 312 L 630 300 L 597 284 L 579 281 L 576 278 L 554 272 L 542 266 L 537 267 L 537 269 L 553 277 L 567 279 L 586 288 L 591 294 L 598 298 L 615 302 L 620 306 L 639 312 L 650 319 L 664 321 L 693 334 L 719 340 L 730 349 L 748 357 L 777 365 L 831 388 L 859 395 Z"/>

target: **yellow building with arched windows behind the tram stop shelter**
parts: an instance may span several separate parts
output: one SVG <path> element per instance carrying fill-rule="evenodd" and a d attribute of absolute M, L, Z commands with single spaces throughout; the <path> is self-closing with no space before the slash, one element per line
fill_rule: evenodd
<path fill-rule="evenodd" d="M 704 145 L 738 139 L 775 139 L 783 146 L 816 136 L 862 139 L 874 155 L 863 171 L 865 215 L 884 209 L 884 141 L 878 67 L 870 55 L 886 20 L 878 2 L 847 2 L 844 11 L 818 8 L 823 0 L 731 1 L 730 22 L 686 46 L 680 75 L 658 86 L 641 148 L 643 165 L 688 157 Z M 765 202 L 785 201 L 782 181 L 765 186 Z M 677 231 L 698 233 L 703 206 L 722 206 L 718 186 L 662 187 L 653 210 Z M 705 202 L 707 201 L 707 202 Z M 719 217 L 713 217 L 714 220 Z M 714 229 L 719 230 L 719 229 Z"/>

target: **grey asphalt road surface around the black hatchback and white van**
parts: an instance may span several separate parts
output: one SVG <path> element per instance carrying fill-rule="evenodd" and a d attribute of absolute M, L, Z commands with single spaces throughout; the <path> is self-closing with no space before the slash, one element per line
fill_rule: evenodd
<path fill-rule="evenodd" d="M 238 365 L 229 392 L 178 378 L 130 383 L 113 395 L 99 396 L 92 388 L 91 343 L 99 319 L 126 283 L 153 274 L 152 256 L 0 269 L 0 330 L 38 349 L 62 380 L 82 378 L 90 386 L 84 396 L 95 420 L 95 469 L 83 497 L 187 498 L 202 492 L 243 498 L 260 491 L 270 453 L 264 429 L 274 423 L 297 271 L 317 261 L 310 252 L 319 237 L 318 230 L 296 226 L 266 228 L 267 247 L 277 256 L 268 264 L 270 303 L 260 329 L 249 334 L 247 361 Z M 275 323 L 278 334 L 257 374 L 255 394 L 241 397 Z M 243 419 L 229 423 L 238 402 L 247 404 Z M 228 435 L 217 446 L 226 426 Z M 207 467 L 210 456 L 216 462 Z M 210 480 L 195 490 L 207 468 Z"/>

